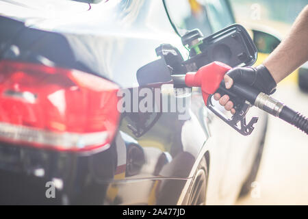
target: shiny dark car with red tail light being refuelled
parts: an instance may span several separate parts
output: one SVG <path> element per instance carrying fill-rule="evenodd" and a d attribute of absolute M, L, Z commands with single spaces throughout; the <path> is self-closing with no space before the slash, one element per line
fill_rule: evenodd
<path fill-rule="evenodd" d="M 196 11 L 205 36 L 234 23 L 227 1 L 198 2 L 0 1 L 1 204 L 230 205 L 248 194 L 266 114 L 251 108 L 259 121 L 242 136 L 207 109 L 201 90 L 138 82 L 161 44 L 188 58 L 179 35 L 197 28 L 191 12 L 207 8 Z M 177 26 L 183 19 L 192 26 Z M 121 112 L 130 93 L 119 92 L 135 95 L 121 102 L 128 107 L 142 88 L 188 98 L 187 114 Z"/>

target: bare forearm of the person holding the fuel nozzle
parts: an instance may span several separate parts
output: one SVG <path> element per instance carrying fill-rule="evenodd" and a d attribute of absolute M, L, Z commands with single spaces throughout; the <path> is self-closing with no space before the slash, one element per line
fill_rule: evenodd
<path fill-rule="evenodd" d="M 264 61 L 278 83 L 308 60 L 308 5 L 296 18 L 287 37 Z"/>

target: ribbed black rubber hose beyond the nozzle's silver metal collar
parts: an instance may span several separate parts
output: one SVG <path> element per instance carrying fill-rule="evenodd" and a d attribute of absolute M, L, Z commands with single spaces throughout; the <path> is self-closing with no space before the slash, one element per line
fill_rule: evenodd
<path fill-rule="evenodd" d="M 285 120 L 287 123 L 294 125 L 298 129 L 308 134 L 308 118 L 306 118 L 299 112 L 295 112 L 289 107 L 284 106 L 279 114 L 279 118 Z"/>

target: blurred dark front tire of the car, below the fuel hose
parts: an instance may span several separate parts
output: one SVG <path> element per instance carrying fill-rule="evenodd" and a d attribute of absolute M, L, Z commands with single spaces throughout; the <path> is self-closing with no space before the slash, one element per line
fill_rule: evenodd
<path fill-rule="evenodd" d="M 263 154 L 263 149 L 264 149 L 264 142 L 266 138 L 266 130 L 268 128 L 268 115 L 266 115 L 266 125 L 264 127 L 264 131 L 261 136 L 261 141 L 259 143 L 257 155 L 255 157 L 255 160 L 253 162 L 253 167 L 251 168 L 251 172 L 249 173 L 248 177 L 246 178 L 246 181 L 244 181 L 242 185 L 242 189 L 240 192 L 239 197 L 246 196 L 250 191 L 251 191 L 251 184 L 255 181 L 257 177 L 257 173 L 259 170 L 260 162 L 261 162 L 261 157 Z"/>

